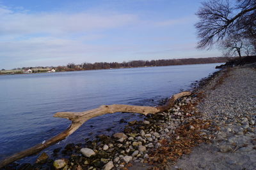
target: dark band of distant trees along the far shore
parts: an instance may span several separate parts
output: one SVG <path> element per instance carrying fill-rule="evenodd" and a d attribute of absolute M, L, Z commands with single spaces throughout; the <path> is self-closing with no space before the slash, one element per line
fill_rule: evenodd
<path fill-rule="evenodd" d="M 227 62 L 230 57 L 209 57 L 190 59 L 168 59 L 168 60 L 132 60 L 130 62 L 95 62 L 94 64 L 84 62 L 83 64 L 69 63 L 67 66 L 55 67 L 56 71 L 79 71 L 90 69 L 116 69 L 129 67 L 153 67 L 153 66 L 175 66 L 185 64 L 207 64 L 216 62 Z"/>

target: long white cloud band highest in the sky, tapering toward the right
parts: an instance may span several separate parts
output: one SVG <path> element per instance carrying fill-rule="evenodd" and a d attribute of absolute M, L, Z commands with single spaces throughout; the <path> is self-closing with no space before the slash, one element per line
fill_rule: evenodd
<path fill-rule="evenodd" d="M 129 14 L 26 13 L 0 8 L 1 34 L 72 34 L 122 27 L 136 22 Z"/>

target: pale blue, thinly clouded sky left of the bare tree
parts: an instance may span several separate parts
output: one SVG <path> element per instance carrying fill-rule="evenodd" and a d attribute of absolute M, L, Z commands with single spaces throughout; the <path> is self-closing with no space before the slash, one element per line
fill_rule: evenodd
<path fill-rule="evenodd" d="M 0 0 L 0 69 L 218 57 L 197 50 L 201 0 Z"/>

